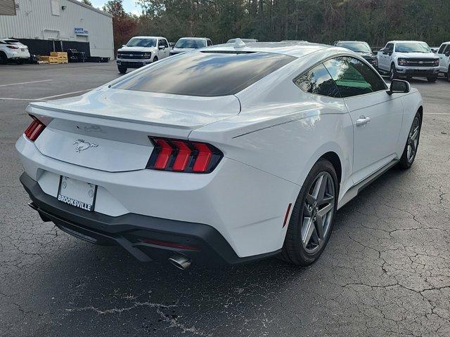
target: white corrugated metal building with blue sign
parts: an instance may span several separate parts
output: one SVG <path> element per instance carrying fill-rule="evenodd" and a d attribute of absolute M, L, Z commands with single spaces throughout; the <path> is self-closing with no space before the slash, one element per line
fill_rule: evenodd
<path fill-rule="evenodd" d="M 114 58 L 113 16 L 77 0 L 0 0 L 0 38 L 14 38 L 30 53 L 68 48 Z"/>

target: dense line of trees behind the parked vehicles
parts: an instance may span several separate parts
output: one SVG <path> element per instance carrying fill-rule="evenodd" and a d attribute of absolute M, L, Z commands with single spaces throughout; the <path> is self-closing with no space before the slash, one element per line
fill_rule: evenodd
<path fill-rule="evenodd" d="M 83 0 L 86 1 L 86 0 Z M 89 0 L 87 0 L 89 2 Z M 214 44 L 233 37 L 259 41 L 450 40 L 449 0 L 137 0 L 141 15 L 110 0 L 115 50 L 134 35 L 210 37 Z"/>

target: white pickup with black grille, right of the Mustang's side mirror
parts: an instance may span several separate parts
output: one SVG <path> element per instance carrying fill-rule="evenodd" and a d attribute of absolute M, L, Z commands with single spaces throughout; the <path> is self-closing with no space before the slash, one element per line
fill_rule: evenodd
<path fill-rule="evenodd" d="M 389 72 L 390 79 L 426 77 L 435 82 L 439 58 L 423 41 L 389 41 L 377 54 L 378 69 Z"/>

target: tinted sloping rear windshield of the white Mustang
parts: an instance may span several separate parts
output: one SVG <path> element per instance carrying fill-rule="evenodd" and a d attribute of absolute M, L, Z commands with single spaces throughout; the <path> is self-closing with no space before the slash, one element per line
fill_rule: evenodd
<path fill-rule="evenodd" d="M 233 95 L 293 60 L 293 56 L 276 53 L 193 51 L 156 62 L 113 88 L 191 96 Z"/>

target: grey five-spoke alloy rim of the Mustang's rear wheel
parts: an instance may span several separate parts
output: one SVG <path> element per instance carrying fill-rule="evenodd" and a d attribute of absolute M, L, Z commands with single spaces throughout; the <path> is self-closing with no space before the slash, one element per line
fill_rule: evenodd
<path fill-rule="evenodd" d="M 301 239 L 304 250 L 314 253 L 321 249 L 330 230 L 335 209 L 335 184 L 330 173 L 317 175 L 303 203 Z"/>

